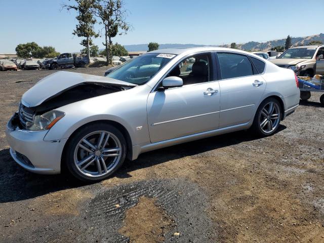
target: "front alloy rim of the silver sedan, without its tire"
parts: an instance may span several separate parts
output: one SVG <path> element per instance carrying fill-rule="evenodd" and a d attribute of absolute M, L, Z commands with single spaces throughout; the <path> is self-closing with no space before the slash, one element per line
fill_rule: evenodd
<path fill-rule="evenodd" d="M 107 131 L 96 131 L 83 137 L 74 149 L 77 170 L 88 177 L 109 174 L 121 158 L 118 138 Z"/>

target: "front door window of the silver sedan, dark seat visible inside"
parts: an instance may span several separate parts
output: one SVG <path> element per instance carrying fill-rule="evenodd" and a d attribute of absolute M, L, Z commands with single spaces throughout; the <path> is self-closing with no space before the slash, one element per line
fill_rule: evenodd
<path fill-rule="evenodd" d="M 185 86 L 211 81 L 211 70 L 213 70 L 211 54 L 196 54 L 181 60 L 167 76 L 181 77 Z"/>

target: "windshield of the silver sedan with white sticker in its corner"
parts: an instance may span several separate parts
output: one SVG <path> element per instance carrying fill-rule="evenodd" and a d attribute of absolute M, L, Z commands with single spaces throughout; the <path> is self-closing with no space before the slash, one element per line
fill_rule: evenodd
<path fill-rule="evenodd" d="M 107 77 L 122 80 L 135 85 L 143 85 L 176 55 L 148 53 L 132 59 L 109 73 Z"/>

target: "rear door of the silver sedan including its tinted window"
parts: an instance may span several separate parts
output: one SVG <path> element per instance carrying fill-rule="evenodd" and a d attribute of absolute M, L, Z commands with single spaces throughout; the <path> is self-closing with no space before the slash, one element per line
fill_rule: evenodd
<path fill-rule="evenodd" d="M 217 52 L 221 73 L 220 128 L 248 123 L 254 118 L 266 82 L 251 62 L 252 59 L 259 62 L 262 73 L 265 63 L 261 59 L 250 59 L 247 55 L 234 52 Z"/>

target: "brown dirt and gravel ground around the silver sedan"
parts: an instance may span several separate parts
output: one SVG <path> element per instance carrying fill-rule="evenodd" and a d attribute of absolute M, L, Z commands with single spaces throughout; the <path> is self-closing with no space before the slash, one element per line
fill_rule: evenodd
<path fill-rule="evenodd" d="M 324 242 L 319 94 L 271 137 L 241 131 L 144 153 L 86 185 L 26 172 L 9 154 L 7 121 L 52 72 L 0 72 L 0 242 Z"/>

